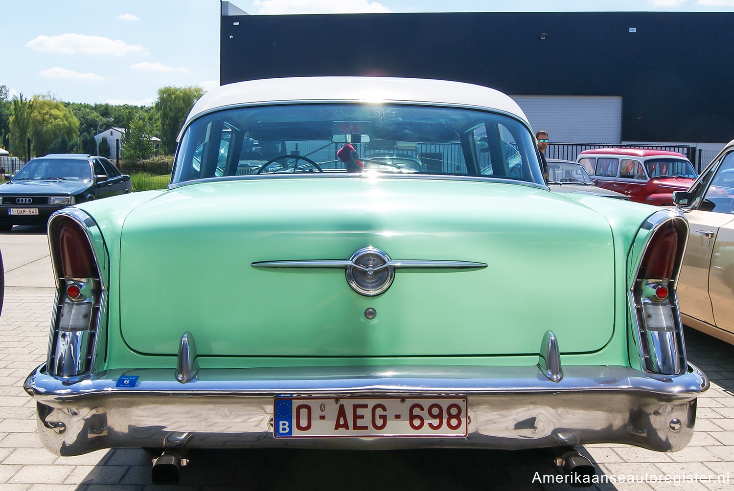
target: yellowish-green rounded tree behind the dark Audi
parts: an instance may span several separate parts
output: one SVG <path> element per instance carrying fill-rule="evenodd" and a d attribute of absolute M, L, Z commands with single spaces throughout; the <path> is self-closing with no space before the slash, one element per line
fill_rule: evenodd
<path fill-rule="evenodd" d="M 30 134 L 36 156 L 48 153 L 54 140 L 66 135 L 69 141 L 79 135 L 79 120 L 64 103 L 51 95 L 34 95 L 30 115 Z"/>

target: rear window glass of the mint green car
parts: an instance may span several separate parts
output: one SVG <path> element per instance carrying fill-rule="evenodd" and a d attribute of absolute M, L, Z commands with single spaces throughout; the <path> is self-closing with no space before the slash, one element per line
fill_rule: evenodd
<path fill-rule="evenodd" d="M 256 106 L 206 114 L 183 134 L 172 183 L 355 172 L 543 183 L 531 133 L 512 117 L 367 103 Z"/>

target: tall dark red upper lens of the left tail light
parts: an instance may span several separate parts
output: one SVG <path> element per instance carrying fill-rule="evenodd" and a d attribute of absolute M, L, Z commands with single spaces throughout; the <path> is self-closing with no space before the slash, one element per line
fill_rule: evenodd
<path fill-rule="evenodd" d="M 58 241 L 57 251 L 64 277 L 91 278 L 99 277 L 92 254 L 92 247 L 84 230 L 69 218 L 60 218 L 54 222 L 53 234 Z"/>

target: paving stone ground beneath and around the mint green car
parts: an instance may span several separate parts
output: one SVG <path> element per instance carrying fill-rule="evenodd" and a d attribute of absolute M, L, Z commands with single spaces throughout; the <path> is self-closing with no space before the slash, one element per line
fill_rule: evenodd
<path fill-rule="evenodd" d="M 29 239 L 30 240 L 30 239 Z M 0 240 L 1 243 L 1 240 Z M 38 269 L 37 262 L 32 265 Z M 50 266 L 49 266 L 50 267 Z M 43 282 L 40 282 L 43 283 Z M 150 484 L 150 456 L 136 448 L 56 457 L 38 441 L 23 380 L 46 357 L 54 289 L 10 286 L 0 316 L 0 491 L 139 491 Z M 610 490 L 734 491 L 734 346 L 686 330 L 688 358 L 709 377 L 688 447 L 661 454 L 629 445 L 586 445 L 597 473 L 647 474 L 648 482 L 599 484 Z M 181 490 L 538 490 L 535 473 L 556 474 L 538 451 L 192 451 Z M 729 473 L 728 481 L 716 475 Z M 713 481 L 653 482 L 651 476 L 713 476 Z M 172 487 L 161 487 L 172 490 Z"/>

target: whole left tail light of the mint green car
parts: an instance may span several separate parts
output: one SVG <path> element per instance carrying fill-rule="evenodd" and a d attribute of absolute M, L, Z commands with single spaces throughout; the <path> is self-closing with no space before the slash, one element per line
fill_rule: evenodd
<path fill-rule="evenodd" d="M 57 215 L 48 225 L 57 305 L 47 370 L 59 377 L 90 371 L 99 316 L 101 282 L 92 244 L 80 222 Z"/>

